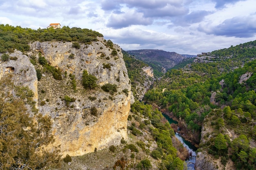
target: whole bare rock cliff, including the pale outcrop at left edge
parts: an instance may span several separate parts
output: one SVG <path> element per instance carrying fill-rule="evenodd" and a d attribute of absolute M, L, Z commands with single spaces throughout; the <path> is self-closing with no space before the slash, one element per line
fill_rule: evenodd
<path fill-rule="evenodd" d="M 63 156 L 83 155 L 118 145 L 126 138 L 131 86 L 123 55 L 118 45 L 110 48 L 106 40 L 97 39 L 80 48 L 74 48 L 72 42 L 37 41 L 29 44 L 27 55 L 14 51 L 10 56 L 16 60 L 0 63 L 0 78 L 13 74 L 16 85 L 33 90 L 39 112 L 52 118 L 53 146 L 59 146 Z M 58 80 L 36 62 L 39 57 L 61 73 Z M 93 90 L 82 86 L 85 70 L 97 78 Z M 42 77 L 37 81 L 39 72 Z M 116 85 L 117 91 L 103 91 L 105 84 Z"/>

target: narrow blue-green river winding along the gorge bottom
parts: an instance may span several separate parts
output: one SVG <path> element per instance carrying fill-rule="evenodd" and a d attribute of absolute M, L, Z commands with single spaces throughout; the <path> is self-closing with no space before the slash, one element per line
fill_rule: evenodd
<path fill-rule="evenodd" d="M 173 120 L 172 118 L 168 117 L 165 114 L 162 114 L 170 124 L 177 124 L 178 122 Z M 196 160 L 196 153 L 195 151 L 197 150 L 197 148 L 195 146 L 193 146 L 189 141 L 186 141 L 182 136 L 180 136 L 180 134 L 175 133 L 175 137 L 183 144 L 183 146 L 189 150 L 190 153 L 190 157 L 188 159 L 186 159 L 186 163 L 188 166 L 188 170 L 195 170 L 195 160 Z"/>

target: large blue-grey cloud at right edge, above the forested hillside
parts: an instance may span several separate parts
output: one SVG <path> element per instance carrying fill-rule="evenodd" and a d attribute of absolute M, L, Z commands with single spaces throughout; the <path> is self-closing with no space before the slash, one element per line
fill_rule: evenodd
<path fill-rule="evenodd" d="M 199 31 L 207 34 L 226 37 L 250 38 L 256 34 L 256 17 L 234 17 L 223 21 L 217 26 L 207 27 L 200 25 Z"/>

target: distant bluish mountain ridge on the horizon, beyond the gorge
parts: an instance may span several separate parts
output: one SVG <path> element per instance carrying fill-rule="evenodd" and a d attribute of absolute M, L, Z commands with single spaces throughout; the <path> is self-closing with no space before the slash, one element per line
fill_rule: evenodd
<path fill-rule="evenodd" d="M 167 52 L 155 49 L 130 50 L 127 52 L 130 55 L 134 55 L 139 60 L 148 62 L 148 64 L 152 63 L 166 69 L 172 68 L 181 62 L 184 58 L 186 58 L 175 52 Z"/>

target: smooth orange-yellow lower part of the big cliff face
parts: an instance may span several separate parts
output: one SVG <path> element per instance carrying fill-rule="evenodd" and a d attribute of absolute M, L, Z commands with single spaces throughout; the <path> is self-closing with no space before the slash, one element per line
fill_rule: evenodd
<path fill-rule="evenodd" d="M 115 106 L 114 104 L 99 117 L 93 126 L 80 126 L 82 118 L 73 124 L 66 135 L 56 135 L 54 146 L 61 146 L 63 156 L 83 155 L 101 150 L 110 145 L 118 145 L 122 137 L 126 138 L 127 118 L 130 110 L 130 102 Z M 80 124 L 80 125 L 79 125 Z M 74 135 L 76 134 L 76 135 Z"/>

